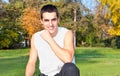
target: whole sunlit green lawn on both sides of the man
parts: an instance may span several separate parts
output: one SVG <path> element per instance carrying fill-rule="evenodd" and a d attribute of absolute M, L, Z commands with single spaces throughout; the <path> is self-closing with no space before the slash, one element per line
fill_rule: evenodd
<path fill-rule="evenodd" d="M 28 54 L 29 49 L 0 50 L 0 76 L 25 76 Z M 75 56 L 81 76 L 120 76 L 120 49 L 78 47 Z"/>

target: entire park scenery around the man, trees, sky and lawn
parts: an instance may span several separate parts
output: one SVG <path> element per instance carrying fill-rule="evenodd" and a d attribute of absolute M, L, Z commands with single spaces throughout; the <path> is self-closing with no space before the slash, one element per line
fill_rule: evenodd
<path fill-rule="evenodd" d="M 24 76 L 45 4 L 56 5 L 59 25 L 73 30 L 81 76 L 120 76 L 120 0 L 0 0 L 0 76 Z"/>

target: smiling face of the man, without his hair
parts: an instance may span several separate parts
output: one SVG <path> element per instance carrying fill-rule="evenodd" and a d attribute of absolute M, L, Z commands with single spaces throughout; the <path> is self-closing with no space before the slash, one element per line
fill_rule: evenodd
<path fill-rule="evenodd" d="M 43 13 L 43 19 L 41 20 L 44 28 L 49 31 L 50 34 L 54 35 L 57 32 L 57 27 L 59 23 L 59 18 L 55 12 L 45 12 Z"/>

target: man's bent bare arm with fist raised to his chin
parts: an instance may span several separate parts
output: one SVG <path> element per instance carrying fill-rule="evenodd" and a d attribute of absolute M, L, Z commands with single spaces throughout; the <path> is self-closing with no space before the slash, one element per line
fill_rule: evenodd
<path fill-rule="evenodd" d="M 43 36 L 45 35 L 45 36 Z M 61 48 L 53 38 L 48 34 L 48 32 L 42 34 L 43 39 L 45 39 L 54 53 L 63 61 L 63 62 L 72 62 L 74 56 L 74 36 L 72 31 L 68 31 L 64 39 L 64 47 Z"/>

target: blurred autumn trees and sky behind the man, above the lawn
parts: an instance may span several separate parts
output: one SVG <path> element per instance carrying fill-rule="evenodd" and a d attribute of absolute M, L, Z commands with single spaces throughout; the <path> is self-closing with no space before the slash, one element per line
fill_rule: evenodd
<path fill-rule="evenodd" d="M 58 7 L 59 25 L 73 30 L 77 47 L 120 48 L 120 0 L 0 0 L 0 49 L 29 47 L 45 4 Z"/>

